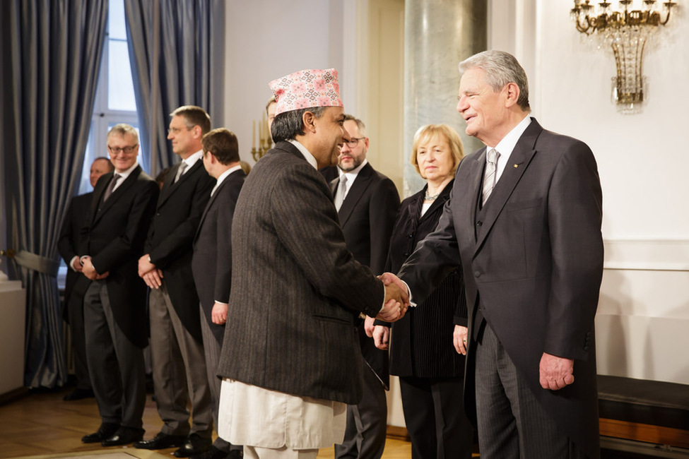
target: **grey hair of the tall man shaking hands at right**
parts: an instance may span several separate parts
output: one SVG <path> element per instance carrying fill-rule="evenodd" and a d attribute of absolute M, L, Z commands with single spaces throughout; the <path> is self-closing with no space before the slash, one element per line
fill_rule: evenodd
<path fill-rule="evenodd" d="M 459 63 L 459 73 L 464 73 L 472 68 L 482 68 L 485 71 L 486 81 L 496 93 L 505 88 L 507 83 L 517 84 L 519 88 L 517 104 L 525 112 L 531 112 L 531 107 L 529 107 L 529 81 L 526 79 L 524 68 L 522 68 L 517 58 L 512 56 L 512 54 L 495 50 L 484 51 L 474 54 Z"/>

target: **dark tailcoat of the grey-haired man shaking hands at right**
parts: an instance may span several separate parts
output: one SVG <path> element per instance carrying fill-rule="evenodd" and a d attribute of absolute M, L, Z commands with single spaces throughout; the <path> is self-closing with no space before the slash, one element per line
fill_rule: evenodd
<path fill-rule="evenodd" d="M 475 410 L 477 318 L 485 318 L 538 401 L 579 448 L 599 458 L 594 316 L 603 274 L 602 193 L 591 150 L 532 119 L 478 210 L 485 148 L 457 169 L 440 225 L 399 274 L 423 300 L 464 268 L 469 308 L 465 406 Z M 575 359 L 575 382 L 539 383 L 543 352 Z"/>

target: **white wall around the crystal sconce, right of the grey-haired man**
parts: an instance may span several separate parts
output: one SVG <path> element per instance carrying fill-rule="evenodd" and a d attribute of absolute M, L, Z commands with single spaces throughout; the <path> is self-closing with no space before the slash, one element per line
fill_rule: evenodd
<path fill-rule="evenodd" d="M 493 0 L 489 44 L 524 62 L 538 121 L 587 142 L 598 160 L 606 241 L 599 373 L 689 383 L 680 351 L 689 347 L 689 14 L 680 10 L 652 37 L 647 103 L 627 115 L 611 102 L 612 51 L 582 40 L 570 8 Z"/>

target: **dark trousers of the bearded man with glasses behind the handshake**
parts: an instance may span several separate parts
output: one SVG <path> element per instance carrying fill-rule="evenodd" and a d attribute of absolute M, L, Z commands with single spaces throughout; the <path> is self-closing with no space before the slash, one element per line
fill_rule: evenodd
<path fill-rule="evenodd" d="M 347 428 L 341 445 L 335 445 L 335 457 L 379 459 L 387 434 L 387 399 L 385 388 L 370 366 L 363 361 L 364 393 L 357 405 L 347 405 Z"/>

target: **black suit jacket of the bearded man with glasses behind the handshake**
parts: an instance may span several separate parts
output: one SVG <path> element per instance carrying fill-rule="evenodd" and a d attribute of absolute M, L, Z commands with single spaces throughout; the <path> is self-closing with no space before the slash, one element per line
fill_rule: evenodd
<path fill-rule="evenodd" d="M 333 196 L 339 179 L 330 182 Z M 395 184 L 367 163 L 361 168 L 338 211 L 347 249 L 354 259 L 371 268 L 375 275 L 384 273 L 390 235 L 399 209 Z M 358 326 L 361 354 L 385 388 L 390 385 L 387 350 L 379 350 L 366 335 L 363 322 Z"/>

